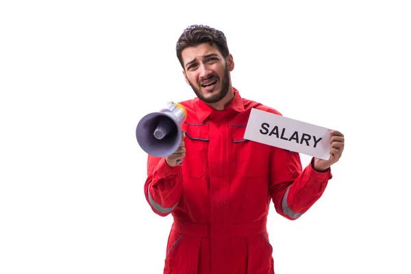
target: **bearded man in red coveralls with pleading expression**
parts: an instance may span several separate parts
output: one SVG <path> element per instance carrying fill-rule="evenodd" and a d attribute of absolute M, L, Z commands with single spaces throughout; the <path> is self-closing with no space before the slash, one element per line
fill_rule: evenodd
<path fill-rule="evenodd" d="M 329 160 L 312 158 L 302 169 L 299 153 L 243 138 L 251 108 L 281 114 L 233 88 L 234 59 L 222 32 L 188 27 L 177 58 L 197 98 L 181 102 L 188 115 L 179 149 L 166 158 L 149 155 L 144 187 L 153 212 L 173 215 L 164 273 L 273 274 L 271 200 L 287 219 L 306 212 L 332 178 L 344 136 L 332 132 Z"/>

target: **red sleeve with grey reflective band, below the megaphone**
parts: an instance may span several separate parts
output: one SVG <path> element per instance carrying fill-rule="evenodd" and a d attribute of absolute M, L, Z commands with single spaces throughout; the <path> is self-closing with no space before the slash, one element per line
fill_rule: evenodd
<path fill-rule="evenodd" d="M 145 197 L 153 212 L 167 216 L 173 212 L 182 196 L 182 167 L 169 166 L 164 158 L 148 157 Z"/>

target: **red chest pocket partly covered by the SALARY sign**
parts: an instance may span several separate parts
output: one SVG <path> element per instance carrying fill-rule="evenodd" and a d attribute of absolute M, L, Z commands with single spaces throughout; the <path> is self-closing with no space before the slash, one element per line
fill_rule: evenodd
<path fill-rule="evenodd" d="M 232 142 L 236 152 L 237 173 L 243 177 L 262 177 L 269 174 L 268 146 L 246 140 L 245 126 L 232 125 Z"/>

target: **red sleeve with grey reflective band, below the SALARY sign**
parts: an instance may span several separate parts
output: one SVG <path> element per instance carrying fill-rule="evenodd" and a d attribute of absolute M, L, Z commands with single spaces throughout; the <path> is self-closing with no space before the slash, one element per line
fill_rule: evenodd
<path fill-rule="evenodd" d="M 298 219 L 323 195 L 331 170 L 313 169 L 314 158 L 302 170 L 299 153 L 273 147 L 270 156 L 269 193 L 275 210 L 290 220 Z"/>

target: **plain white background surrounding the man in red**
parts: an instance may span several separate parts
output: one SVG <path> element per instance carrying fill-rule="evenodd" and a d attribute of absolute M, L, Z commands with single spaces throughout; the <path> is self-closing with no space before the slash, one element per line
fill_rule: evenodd
<path fill-rule="evenodd" d="M 309 212 L 271 208 L 276 273 L 411 273 L 407 2 L 1 1 L 0 273 L 162 273 L 135 128 L 194 96 L 192 23 L 225 32 L 242 97 L 345 134 Z"/>

